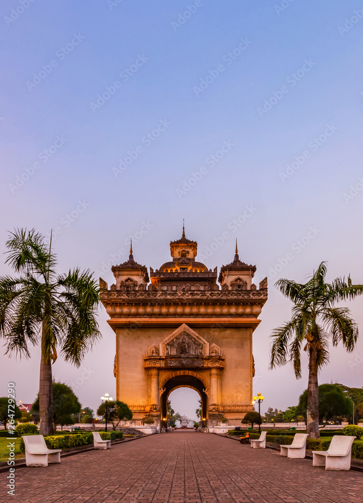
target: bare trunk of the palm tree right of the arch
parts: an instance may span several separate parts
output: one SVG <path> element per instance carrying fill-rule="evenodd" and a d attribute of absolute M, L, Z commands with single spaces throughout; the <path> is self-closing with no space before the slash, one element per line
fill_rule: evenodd
<path fill-rule="evenodd" d="M 308 384 L 308 403 L 306 410 L 307 433 L 311 439 L 320 439 L 319 433 L 319 389 L 318 389 L 318 370 L 316 366 L 317 350 L 310 346 L 309 356 L 309 384 Z"/>

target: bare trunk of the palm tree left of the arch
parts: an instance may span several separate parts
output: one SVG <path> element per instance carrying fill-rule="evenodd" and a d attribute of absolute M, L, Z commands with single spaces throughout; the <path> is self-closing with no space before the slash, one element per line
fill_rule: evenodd
<path fill-rule="evenodd" d="M 42 328 L 42 356 L 40 361 L 39 378 L 39 416 L 41 435 L 52 435 L 53 430 L 53 379 L 50 355 L 45 351 L 45 327 Z"/>

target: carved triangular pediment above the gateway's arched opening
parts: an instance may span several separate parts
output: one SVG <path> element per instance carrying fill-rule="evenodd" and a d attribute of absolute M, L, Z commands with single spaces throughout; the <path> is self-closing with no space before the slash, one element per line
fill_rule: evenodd
<path fill-rule="evenodd" d="M 209 343 L 186 323 L 180 325 L 160 344 L 160 354 L 164 357 L 206 357 Z"/>

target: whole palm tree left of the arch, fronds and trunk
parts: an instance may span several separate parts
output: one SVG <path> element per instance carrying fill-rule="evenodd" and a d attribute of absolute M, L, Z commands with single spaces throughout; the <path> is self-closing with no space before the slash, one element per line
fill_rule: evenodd
<path fill-rule="evenodd" d="M 29 344 L 41 344 L 40 433 L 53 433 L 51 362 L 57 347 L 79 367 L 101 337 L 96 321 L 99 290 L 92 274 L 78 268 L 57 275 L 56 258 L 34 229 L 12 232 L 6 243 L 9 263 L 20 276 L 0 278 L 0 336 L 7 352 L 30 357 Z"/>

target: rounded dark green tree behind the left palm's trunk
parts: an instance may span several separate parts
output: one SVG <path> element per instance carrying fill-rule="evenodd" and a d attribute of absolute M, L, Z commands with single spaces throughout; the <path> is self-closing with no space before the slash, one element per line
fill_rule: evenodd
<path fill-rule="evenodd" d="M 53 382 L 53 428 L 57 425 L 73 425 L 72 414 L 78 414 L 80 403 L 72 388 L 61 382 Z M 33 403 L 32 412 L 39 412 L 39 397 Z"/>

